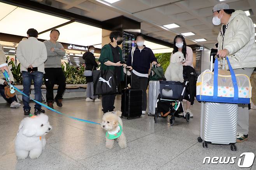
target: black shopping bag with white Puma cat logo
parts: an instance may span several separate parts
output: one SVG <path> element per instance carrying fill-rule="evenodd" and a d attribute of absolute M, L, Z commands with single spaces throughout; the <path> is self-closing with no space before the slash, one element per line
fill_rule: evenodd
<path fill-rule="evenodd" d="M 94 95 L 116 94 L 117 78 L 114 70 L 93 70 Z"/>

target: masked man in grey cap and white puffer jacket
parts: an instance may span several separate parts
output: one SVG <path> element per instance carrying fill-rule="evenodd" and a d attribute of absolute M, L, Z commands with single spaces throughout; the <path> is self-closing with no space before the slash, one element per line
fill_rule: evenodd
<path fill-rule="evenodd" d="M 242 10 L 230 9 L 226 3 L 215 5 L 212 12 L 212 23 L 223 24 L 218 35 L 217 54 L 229 57 L 235 74 L 251 77 L 256 67 L 255 29 L 251 18 Z M 248 140 L 248 130 L 248 106 L 238 104 L 237 142 Z"/>

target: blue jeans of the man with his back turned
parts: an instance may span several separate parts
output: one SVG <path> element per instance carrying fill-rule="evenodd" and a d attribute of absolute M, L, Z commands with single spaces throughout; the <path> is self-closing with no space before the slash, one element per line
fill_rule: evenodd
<path fill-rule="evenodd" d="M 33 80 L 34 82 L 34 88 L 35 88 L 35 100 L 41 102 L 42 101 L 42 92 L 41 92 L 41 86 L 43 83 L 43 76 L 44 74 L 39 71 L 35 72 L 27 72 L 27 71 L 22 71 L 22 84 L 23 84 L 23 93 L 29 96 L 30 94 L 30 86 L 31 82 Z M 29 106 L 29 101 L 30 99 L 26 97 L 25 95 L 22 95 L 22 101 L 23 101 L 23 109 L 24 110 L 30 110 L 31 107 Z M 35 109 L 40 110 L 41 105 L 40 104 L 35 104 Z"/>

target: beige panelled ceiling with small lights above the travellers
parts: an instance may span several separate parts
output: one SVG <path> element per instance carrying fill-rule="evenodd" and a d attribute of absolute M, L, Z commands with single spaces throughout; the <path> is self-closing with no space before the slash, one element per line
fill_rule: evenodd
<path fill-rule="evenodd" d="M 105 5 L 96 0 L 52 0 L 55 7 L 67 8 L 74 13 L 103 21 L 111 17 L 124 15 L 141 23 L 141 32 L 170 42 L 177 33 L 193 32 L 195 36 L 185 37 L 188 44 L 195 44 L 195 38 L 205 38 L 206 42 L 198 45 L 212 44 L 216 41 L 221 26 L 212 24 L 212 7 L 219 0 L 119 0 Z M 174 2 L 171 4 L 171 2 Z M 250 16 L 256 23 L 256 0 L 225 0 L 235 10 L 252 9 Z M 45 3 L 45 1 L 42 1 Z M 162 5 L 162 6 L 159 6 Z M 140 12 L 139 12 L 140 11 Z M 135 14 L 133 14 L 135 12 Z M 180 28 L 163 29 L 166 24 L 178 24 Z M 171 37 L 171 38 L 169 38 Z"/>

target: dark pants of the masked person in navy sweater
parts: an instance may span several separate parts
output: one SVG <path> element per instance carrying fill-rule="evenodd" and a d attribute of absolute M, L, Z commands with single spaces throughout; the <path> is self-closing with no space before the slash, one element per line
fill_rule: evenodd
<path fill-rule="evenodd" d="M 142 111 L 147 109 L 147 77 L 140 77 L 132 73 L 132 89 L 143 90 Z"/>

